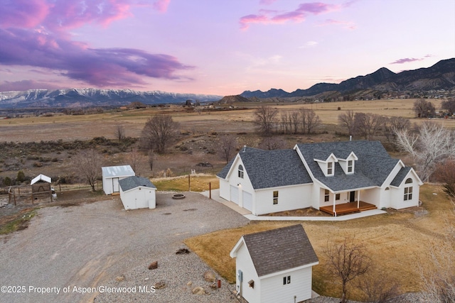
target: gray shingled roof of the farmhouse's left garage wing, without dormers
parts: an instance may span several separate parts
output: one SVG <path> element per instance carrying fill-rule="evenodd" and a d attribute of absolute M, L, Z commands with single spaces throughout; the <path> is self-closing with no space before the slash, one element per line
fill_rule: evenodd
<path fill-rule="evenodd" d="M 312 182 L 296 150 L 244 150 L 239 155 L 254 189 Z M 224 179 L 228 175 L 232 162 L 221 170 L 218 177 Z"/>

